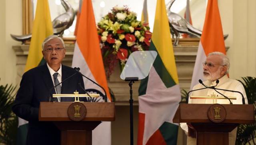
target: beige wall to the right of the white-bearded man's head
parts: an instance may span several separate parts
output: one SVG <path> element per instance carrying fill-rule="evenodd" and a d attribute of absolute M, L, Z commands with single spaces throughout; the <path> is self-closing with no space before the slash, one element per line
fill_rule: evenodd
<path fill-rule="evenodd" d="M 256 76 L 256 1 L 219 0 L 224 33 L 229 37 L 230 77 Z"/>

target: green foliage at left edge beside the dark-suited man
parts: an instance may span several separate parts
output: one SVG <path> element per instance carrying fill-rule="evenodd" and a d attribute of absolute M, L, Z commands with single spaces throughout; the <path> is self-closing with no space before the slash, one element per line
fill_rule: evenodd
<path fill-rule="evenodd" d="M 6 84 L 0 86 L 0 143 L 16 144 L 18 118 L 12 113 L 14 90 L 16 87 Z"/>

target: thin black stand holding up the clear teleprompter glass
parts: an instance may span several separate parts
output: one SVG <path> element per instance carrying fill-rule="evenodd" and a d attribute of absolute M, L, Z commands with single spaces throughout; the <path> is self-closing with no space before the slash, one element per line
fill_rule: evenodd
<path fill-rule="evenodd" d="M 125 81 L 129 81 L 130 86 L 130 145 L 133 145 L 133 99 L 132 99 L 132 83 L 138 81 L 138 77 L 126 77 Z"/>

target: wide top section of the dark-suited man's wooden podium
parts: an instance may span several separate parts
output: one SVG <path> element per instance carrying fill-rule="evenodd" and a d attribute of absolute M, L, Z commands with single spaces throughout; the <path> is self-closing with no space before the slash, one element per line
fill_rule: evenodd
<path fill-rule="evenodd" d="M 74 102 L 40 102 L 39 121 L 72 121 L 68 107 Z M 82 121 L 114 121 L 114 102 L 82 102 L 87 114 Z"/>

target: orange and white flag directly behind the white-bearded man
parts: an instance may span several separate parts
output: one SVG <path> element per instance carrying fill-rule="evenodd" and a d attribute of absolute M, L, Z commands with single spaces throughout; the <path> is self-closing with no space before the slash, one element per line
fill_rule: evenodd
<path fill-rule="evenodd" d="M 214 51 L 226 54 L 218 1 L 208 0 L 204 27 L 198 46 L 190 90 L 192 90 L 193 86 L 198 84 L 199 79 L 203 78 L 204 70 L 202 63 L 206 60 L 207 55 Z M 184 131 L 188 132 L 186 123 L 180 123 L 180 126 Z"/>

